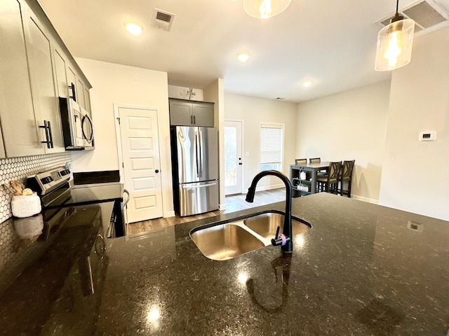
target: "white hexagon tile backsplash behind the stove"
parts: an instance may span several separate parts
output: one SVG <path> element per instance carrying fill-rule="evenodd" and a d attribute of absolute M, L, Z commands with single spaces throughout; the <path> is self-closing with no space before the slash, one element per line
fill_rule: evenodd
<path fill-rule="evenodd" d="M 70 153 L 0 159 L 0 223 L 13 216 L 11 212 L 12 195 L 3 186 L 5 183 L 11 180 L 25 182 L 29 175 L 43 172 L 53 167 L 63 166 L 66 162 L 72 162 Z"/>

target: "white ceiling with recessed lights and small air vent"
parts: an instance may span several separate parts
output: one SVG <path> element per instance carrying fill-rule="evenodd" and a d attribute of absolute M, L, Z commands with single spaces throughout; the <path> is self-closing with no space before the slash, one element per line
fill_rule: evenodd
<path fill-rule="evenodd" d="M 225 92 L 302 102 L 391 76 L 374 70 L 375 22 L 394 13 L 394 0 L 293 0 L 268 20 L 248 16 L 243 0 L 39 2 L 75 57 L 166 71 L 170 85 L 202 89 L 224 78 Z M 170 31 L 151 27 L 154 8 L 175 14 Z M 128 34 L 128 21 L 142 36 Z M 302 87 L 305 79 L 314 85 Z"/>

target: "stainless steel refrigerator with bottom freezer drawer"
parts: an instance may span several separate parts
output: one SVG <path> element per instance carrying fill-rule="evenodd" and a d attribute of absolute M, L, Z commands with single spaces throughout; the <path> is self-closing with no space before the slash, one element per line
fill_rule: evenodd
<path fill-rule="evenodd" d="M 170 135 L 175 211 L 190 216 L 217 210 L 217 129 L 176 126 Z"/>

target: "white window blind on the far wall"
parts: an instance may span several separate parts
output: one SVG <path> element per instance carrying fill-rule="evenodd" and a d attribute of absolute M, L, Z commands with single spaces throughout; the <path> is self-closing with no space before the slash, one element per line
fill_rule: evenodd
<path fill-rule="evenodd" d="M 283 128 L 281 125 L 260 126 L 260 163 L 282 162 Z"/>

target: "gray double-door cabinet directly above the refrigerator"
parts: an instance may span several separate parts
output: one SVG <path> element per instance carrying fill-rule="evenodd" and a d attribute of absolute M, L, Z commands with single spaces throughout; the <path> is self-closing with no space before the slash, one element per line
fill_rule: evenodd
<path fill-rule="evenodd" d="M 170 125 L 213 127 L 213 103 L 170 99 Z"/>

